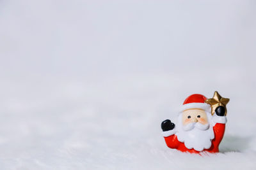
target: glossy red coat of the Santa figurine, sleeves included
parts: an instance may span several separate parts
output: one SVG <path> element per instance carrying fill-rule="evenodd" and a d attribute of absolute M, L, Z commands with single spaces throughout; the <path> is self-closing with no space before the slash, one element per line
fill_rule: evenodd
<path fill-rule="evenodd" d="M 207 152 L 219 152 L 219 145 L 223 138 L 224 132 L 225 132 L 225 124 L 215 124 L 213 127 L 214 131 L 214 139 L 212 139 L 212 145 L 211 148 L 202 150 L 201 152 L 207 151 Z M 175 134 L 164 137 L 166 145 L 169 148 L 180 150 L 181 152 L 190 152 L 190 153 L 200 153 L 199 151 L 196 151 L 194 149 L 188 149 L 184 145 L 184 143 L 180 142 Z"/>

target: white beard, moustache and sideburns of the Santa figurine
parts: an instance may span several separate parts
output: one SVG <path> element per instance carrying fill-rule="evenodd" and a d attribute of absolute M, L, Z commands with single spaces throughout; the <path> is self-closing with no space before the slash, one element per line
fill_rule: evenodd
<path fill-rule="evenodd" d="M 207 113 L 209 124 L 191 123 L 188 125 L 182 124 L 182 114 L 179 115 L 177 124 L 177 137 L 180 142 L 183 142 L 188 149 L 194 148 L 197 151 L 211 148 L 214 139 L 214 132 L 211 125 L 211 113 Z"/>

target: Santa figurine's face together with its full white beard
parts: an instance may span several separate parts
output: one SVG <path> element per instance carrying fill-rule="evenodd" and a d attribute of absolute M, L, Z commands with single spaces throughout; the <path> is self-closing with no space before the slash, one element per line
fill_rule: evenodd
<path fill-rule="evenodd" d="M 177 137 L 184 142 L 188 149 L 194 148 L 197 151 L 209 149 L 211 140 L 214 139 L 212 129 L 211 113 L 204 110 L 185 110 L 179 115 L 177 124 Z"/>

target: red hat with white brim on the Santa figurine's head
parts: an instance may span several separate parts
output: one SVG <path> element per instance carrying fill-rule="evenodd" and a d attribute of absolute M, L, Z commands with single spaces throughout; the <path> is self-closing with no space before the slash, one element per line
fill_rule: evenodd
<path fill-rule="evenodd" d="M 187 99 L 185 99 L 180 112 L 189 109 L 202 109 L 205 111 L 211 111 L 211 106 L 207 103 L 204 103 L 206 99 L 207 98 L 202 94 L 192 94 L 191 96 L 187 97 Z"/>

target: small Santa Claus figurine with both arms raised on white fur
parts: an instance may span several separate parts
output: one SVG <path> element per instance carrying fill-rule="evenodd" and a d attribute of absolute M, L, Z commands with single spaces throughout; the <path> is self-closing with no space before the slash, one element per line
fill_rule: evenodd
<path fill-rule="evenodd" d="M 218 92 L 215 93 L 218 94 Z M 224 101 L 226 98 L 222 99 Z M 205 96 L 193 94 L 184 101 L 177 125 L 171 120 L 162 122 L 163 136 L 169 148 L 190 153 L 219 152 L 218 147 L 227 122 L 225 117 L 227 109 L 221 103 L 216 106 L 218 101 L 214 97 L 209 100 L 214 100 L 212 103 L 215 107 L 212 107 L 210 102 L 208 102 L 210 104 L 205 103 L 207 101 Z M 211 111 L 212 108 L 214 108 L 213 111 Z"/>

